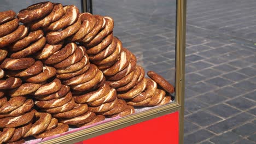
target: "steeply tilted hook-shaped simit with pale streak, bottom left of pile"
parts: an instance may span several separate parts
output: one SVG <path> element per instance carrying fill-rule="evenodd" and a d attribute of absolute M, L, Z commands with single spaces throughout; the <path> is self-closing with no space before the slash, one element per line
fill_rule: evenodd
<path fill-rule="evenodd" d="M 35 112 L 34 116 L 39 118 L 35 123 L 32 124 L 30 130 L 24 135 L 24 137 L 30 135 L 36 135 L 42 133 L 51 122 L 51 114 L 44 112 Z"/>

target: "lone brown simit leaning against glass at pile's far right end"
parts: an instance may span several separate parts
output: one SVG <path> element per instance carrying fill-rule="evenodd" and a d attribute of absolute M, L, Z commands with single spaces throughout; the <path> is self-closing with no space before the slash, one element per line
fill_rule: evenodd
<path fill-rule="evenodd" d="M 174 87 L 171 85 L 171 83 L 167 82 L 164 77 L 156 74 L 154 71 L 148 71 L 148 76 L 153 79 L 156 83 L 158 83 L 159 86 L 165 89 L 165 91 L 169 93 L 174 92 Z"/>

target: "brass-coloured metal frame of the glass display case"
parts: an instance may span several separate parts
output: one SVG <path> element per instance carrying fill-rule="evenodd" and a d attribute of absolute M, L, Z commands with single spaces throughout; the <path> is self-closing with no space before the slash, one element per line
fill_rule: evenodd
<path fill-rule="evenodd" d="M 90 9 L 88 1 L 82 0 L 84 10 Z M 90 1 L 90 0 L 89 0 Z M 185 71 L 185 26 L 186 26 L 186 5 L 187 0 L 177 0 L 176 2 L 176 95 L 175 101 L 170 104 L 155 107 L 140 113 L 119 118 L 112 122 L 96 125 L 91 128 L 76 131 L 72 134 L 57 137 L 42 143 L 74 143 L 90 139 L 92 137 L 109 133 L 117 129 L 128 127 L 132 124 L 147 121 L 152 118 L 160 117 L 179 111 L 179 143 L 183 143 L 184 127 L 184 71 Z M 91 9 L 92 10 L 92 9 Z"/>

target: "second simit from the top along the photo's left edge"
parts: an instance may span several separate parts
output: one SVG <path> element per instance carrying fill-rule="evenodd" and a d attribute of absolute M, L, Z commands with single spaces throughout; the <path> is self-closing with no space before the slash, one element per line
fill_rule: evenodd
<path fill-rule="evenodd" d="M 7 35 L 11 32 L 13 32 L 19 25 L 19 20 L 18 19 L 14 19 L 11 20 L 7 23 L 3 23 L 2 25 L 0 25 L 0 37 L 3 37 L 4 35 Z"/>

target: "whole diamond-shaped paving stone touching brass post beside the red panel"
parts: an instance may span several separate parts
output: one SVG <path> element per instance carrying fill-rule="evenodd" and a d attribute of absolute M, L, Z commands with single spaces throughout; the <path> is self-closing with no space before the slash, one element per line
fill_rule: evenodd
<path fill-rule="evenodd" d="M 192 115 L 187 116 L 186 119 L 202 127 L 222 120 L 221 118 L 211 115 L 211 113 L 207 113 L 204 111 L 193 113 Z"/>

